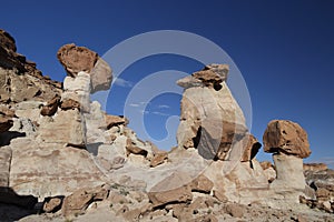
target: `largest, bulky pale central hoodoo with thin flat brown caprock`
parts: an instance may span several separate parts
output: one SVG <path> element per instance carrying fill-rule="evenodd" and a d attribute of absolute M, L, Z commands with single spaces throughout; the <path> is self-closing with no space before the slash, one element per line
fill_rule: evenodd
<path fill-rule="evenodd" d="M 224 82 L 227 72 L 227 65 L 207 65 L 177 82 L 186 88 L 177 131 L 180 149 L 197 148 L 205 159 L 226 160 L 233 143 L 245 137 L 243 111 Z"/>

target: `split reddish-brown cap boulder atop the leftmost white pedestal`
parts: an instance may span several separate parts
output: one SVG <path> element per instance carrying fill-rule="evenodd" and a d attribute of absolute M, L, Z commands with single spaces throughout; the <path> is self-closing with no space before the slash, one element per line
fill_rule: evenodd
<path fill-rule="evenodd" d="M 58 50 L 57 57 L 69 77 L 76 78 L 79 72 L 91 75 L 91 93 L 110 88 L 112 70 L 96 52 L 71 43 L 62 46 Z"/>

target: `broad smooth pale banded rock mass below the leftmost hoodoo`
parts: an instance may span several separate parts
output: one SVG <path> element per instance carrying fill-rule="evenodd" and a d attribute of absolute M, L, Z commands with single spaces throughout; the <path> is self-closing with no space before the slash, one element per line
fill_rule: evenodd
<path fill-rule="evenodd" d="M 104 173 L 86 151 L 60 143 L 38 143 L 17 138 L 10 143 L 12 158 L 9 186 L 20 195 L 68 195 L 78 188 L 96 186 Z"/>

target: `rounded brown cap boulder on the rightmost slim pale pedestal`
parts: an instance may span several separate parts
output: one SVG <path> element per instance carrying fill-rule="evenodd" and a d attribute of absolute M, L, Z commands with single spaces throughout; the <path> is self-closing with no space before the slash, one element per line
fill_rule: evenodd
<path fill-rule="evenodd" d="M 282 152 L 307 158 L 311 154 L 307 133 L 297 123 L 287 120 L 273 120 L 263 135 L 264 151 Z"/>

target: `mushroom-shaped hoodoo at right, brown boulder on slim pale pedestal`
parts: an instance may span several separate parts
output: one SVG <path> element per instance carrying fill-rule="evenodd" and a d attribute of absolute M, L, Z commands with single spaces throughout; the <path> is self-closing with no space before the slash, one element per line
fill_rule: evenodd
<path fill-rule="evenodd" d="M 271 183 L 271 189 L 295 202 L 303 193 L 313 196 L 303 173 L 303 158 L 311 154 L 304 129 L 292 121 L 273 120 L 264 132 L 263 142 L 264 151 L 274 153 L 276 179 Z"/>

